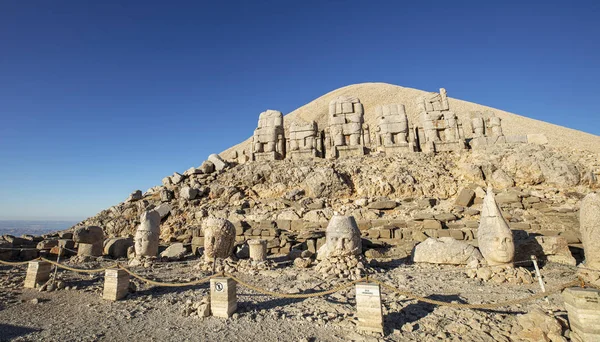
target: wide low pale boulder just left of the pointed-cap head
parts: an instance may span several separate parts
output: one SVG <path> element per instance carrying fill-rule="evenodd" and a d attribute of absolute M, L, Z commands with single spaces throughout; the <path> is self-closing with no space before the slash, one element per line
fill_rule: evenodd
<path fill-rule="evenodd" d="M 414 262 L 466 265 L 471 260 L 482 261 L 479 251 L 470 244 L 451 237 L 428 238 L 415 246 Z"/>

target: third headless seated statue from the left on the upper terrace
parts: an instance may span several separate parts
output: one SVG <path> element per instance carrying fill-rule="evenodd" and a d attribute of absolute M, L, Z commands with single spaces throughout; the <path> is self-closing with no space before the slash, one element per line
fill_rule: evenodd
<path fill-rule="evenodd" d="M 370 145 L 364 109 L 356 97 L 339 96 L 329 103 L 329 127 L 325 134 L 327 158 L 362 156 Z"/>

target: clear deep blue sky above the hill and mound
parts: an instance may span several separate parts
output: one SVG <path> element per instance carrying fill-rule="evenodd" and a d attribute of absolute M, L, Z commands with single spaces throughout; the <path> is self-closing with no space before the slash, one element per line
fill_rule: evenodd
<path fill-rule="evenodd" d="M 83 219 L 341 86 L 600 134 L 599 1 L 0 2 L 0 219 Z"/>

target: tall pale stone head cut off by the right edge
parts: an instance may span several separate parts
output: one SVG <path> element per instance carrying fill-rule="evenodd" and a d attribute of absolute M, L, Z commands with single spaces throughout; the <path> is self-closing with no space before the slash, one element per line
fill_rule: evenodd
<path fill-rule="evenodd" d="M 579 211 L 585 266 L 600 270 L 600 195 L 591 193 L 581 201 Z"/>

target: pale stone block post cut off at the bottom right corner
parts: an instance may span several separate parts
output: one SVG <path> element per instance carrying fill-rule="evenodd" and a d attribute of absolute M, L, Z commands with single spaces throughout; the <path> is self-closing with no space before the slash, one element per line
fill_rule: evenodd
<path fill-rule="evenodd" d="M 571 287 L 563 291 L 573 341 L 600 341 L 600 291 Z M 576 336 L 573 336 L 575 335 Z"/>

